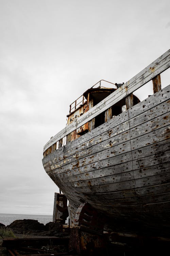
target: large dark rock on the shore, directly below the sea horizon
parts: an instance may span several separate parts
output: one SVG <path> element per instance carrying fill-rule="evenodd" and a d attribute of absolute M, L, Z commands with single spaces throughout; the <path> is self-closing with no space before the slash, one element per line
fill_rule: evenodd
<path fill-rule="evenodd" d="M 15 233 L 27 233 L 29 230 L 31 231 L 45 231 L 46 227 L 44 224 L 39 223 L 37 220 L 34 219 L 18 219 L 7 226 Z"/>

